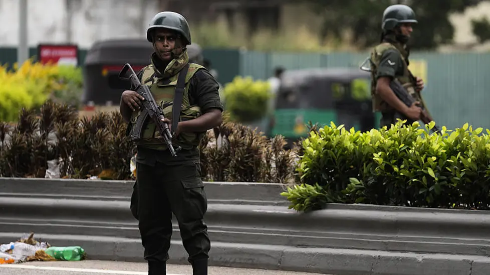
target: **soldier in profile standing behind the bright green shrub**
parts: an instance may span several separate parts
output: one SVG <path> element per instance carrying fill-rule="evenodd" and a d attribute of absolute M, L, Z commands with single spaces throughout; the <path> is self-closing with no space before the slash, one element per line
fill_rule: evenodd
<path fill-rule="evenodd" d="M 415 12 L 407 5 L 390 5 L 383 12 L 381 43 L 371 51 L 371 95 L 373 110 L 382 114 L 381 127 L 390 127 L 397 118 L 406 119 L 407 124 L 420 119 L 421 109 L 417 105 L 422 101 L 420 91 L 424 83 L 408 69 L 407 42 L 414 23 L 417 23 Z M 409 107 L 403 104 L 389 86 L 393 78 L 397 78 L 417 102 Z"/>

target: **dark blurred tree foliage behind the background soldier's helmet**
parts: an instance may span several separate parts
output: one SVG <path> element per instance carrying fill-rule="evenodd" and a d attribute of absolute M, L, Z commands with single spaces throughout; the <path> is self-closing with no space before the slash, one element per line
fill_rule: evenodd
<path fill-rule="evenodd" d="M 454 26 L 449 14 L 462 12 L 482 0 L 309 0 L 312 8 L 323 15 L 322 35 L 341 37 L 345 30 L 353 32 L 353 43 L 369 47 L 380 40 L 383 10 L 393 3 L 408 4 L 416 13 L 411 47 L 432 49 L 452 41 Z"/>

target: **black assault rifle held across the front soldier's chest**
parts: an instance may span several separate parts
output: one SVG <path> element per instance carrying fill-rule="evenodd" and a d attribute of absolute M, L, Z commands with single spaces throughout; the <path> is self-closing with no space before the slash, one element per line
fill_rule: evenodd
<path fill-rule="evenodd" d="M 162 136 L 163 140 L 167 144 L 167 147 L 170 150 L 170 153 L 172 154 L 172 156 L 176 156 L 177 152 L 181 148 L 179 146 L 176 149 L 174 149 L 174 147 L 172 145 L 172 134 L 170 133 L 170 129 L 168 127 L 168 124 L 166 122 L 162 121 L 162 119 L 165 118 L 163 116 L 163 110 L 155 102 L 155 98 L 153 98 L 153 95 L 151 94 L 150 88 L 147 85 L 141 84 L 140 80 L 138 79 L 138 76 L 134 72 L 131 65 L 128 63 L 126 63 L 124 65 L 124 67 L 121 69 L 121 71 L 119 72 L 119 78 L 121 78 L 123 80 L 131 81 L 131 84 L 134 87 L 136 87 L 134 90 L 145 98 L 145 100 L 142 100 L 144 108 L 141 111 L 141 114 L 139 115 L 138 119 L 136 120 L 136 124 L 134 126 L 135 127 L 135 134 L 130 136 L 130 140 L 132 141 L 134 139 L 141 137 L 143 124 L 144 124 L 146 118 L 149 116 L 149 117 L 151 117 L 151 119 L 153 119 L 156 126 L 158 127 L 158 130 L 160 131 L 160 135 Z"/>

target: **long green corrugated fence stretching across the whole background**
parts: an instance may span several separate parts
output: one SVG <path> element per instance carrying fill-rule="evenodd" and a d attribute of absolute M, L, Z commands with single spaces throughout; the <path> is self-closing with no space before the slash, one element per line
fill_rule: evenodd
<path fill-rule="evenodd" d="M 30 48 L 36 57 L 37 49 Z M 87 49 L 80 49 L 79 63 L 84 64 Z M 236 75 L 267 79 L 277 66 L 288 70 L 313 67 L 359 67 L 369 51 L 351 52 L 260 52 L 238 49 L 204 49 L 223 85 Z M 440 125 L 460 127 L 468 122 L 475 127 L 490 128 L 490 77 L 486 69 L 490 53 L 412 52 L 413 64 L 422 65 L 426 87 L 422 91 L 427 106 Z M 17 48 L 0 48 L 0 63 L 17 61 Z"/>

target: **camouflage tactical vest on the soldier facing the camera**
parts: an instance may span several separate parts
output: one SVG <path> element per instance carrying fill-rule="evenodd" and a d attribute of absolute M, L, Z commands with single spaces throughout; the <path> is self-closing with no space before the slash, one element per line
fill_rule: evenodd
<path fill-rule="evenodd" d="M 185 76 L 185 88 L 182 96 L 182 104 L 180 109 L 179 121 L 185 121 L 197 118 L 201 115 L 201 110 L 197 105 L 191 105 L 189 102 L 189 84 L 190 79 L 194 73 L 198 70 L 204 68 L 196 63 L 189 63 L 189 68 Z M 141 83 L 143 85 L 148 85 L 150 91 L 155 98 L 157 104 L 162 108 L 163 115 L 165 118 L 169 118 L 173 121 L 172 117 L 172 103 L 175 94 L 175 87 L 177 85 L 178 73 L 171 76 L 168 80 L 163 82 L 162 78 L 155 76 L 155 70 L 152 65 L 148 65 L 143 68 L 143 73 L 141 77 Z M 128 131 L 131 132 L 133 129 L 138 116 L 141 111 L 134 111 L 131 115 L 131 121 L 129 123 Z M 199 141 L 205 132 L 181 132 L 177 137 L 173 137 L 172 143 L 181 146 L 183 149 L 190 149 L 194 146 L 199 145 Z M 143 130 L 141 133 L 141 138 L 133 140 L 133 144 L 139 145 L 146 148 L 166 150 L 167 145 L 160 139 L 160 132 L 156 127 L 153 120 L 148 117 L 147 122 L 143 124 Z"/>

